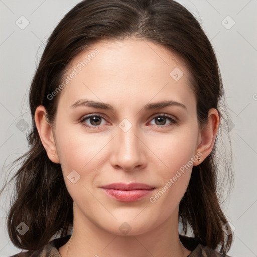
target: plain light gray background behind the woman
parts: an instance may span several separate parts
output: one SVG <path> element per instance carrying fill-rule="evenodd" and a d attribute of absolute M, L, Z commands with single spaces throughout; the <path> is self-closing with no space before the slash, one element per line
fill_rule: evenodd
<path fill-rule="evenodd" d="M 7 176 L 6 166 L 26 152 L 28 147 L 26 132 L 31 126 L 28 92 L 45 42 L 61 18 L 78 2 L 0 0 L 2 182 Z M 196 16 L 211 40 L 230 109 L 231 119 L 227 121 L 232 133 L 235 185 L 223 202 L 223 208 L 234 227 L 235 240 L 228 254 L 236 257 L 257 256 L 257 1 L 178 2 Z M 29 25 L 23 28 L 28 22 Z M 10 191 L 5 192 L 0 198 L 0 256 L 10 256 L 20 251 L 10 242 L 5 225 L 6 200 L 9 200 L 10 194 Z"/>

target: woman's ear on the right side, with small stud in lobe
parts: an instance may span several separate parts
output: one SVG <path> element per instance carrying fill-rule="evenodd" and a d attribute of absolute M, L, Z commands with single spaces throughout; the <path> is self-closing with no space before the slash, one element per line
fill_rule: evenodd
<path fill-rule="evenodd" d="M 208 113 L 208 123 L 202 129 L 198 137 L 197 153 L 201 153 L 200 161 L 196 161 L 194 166 L 199 165 L 212 151 L 218 132 L 220 117 L 217 109 L 212 108 Z"/>

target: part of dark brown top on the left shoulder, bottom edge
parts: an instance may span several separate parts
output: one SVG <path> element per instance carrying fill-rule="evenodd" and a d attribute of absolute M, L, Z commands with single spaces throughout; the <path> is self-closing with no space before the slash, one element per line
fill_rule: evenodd
<path fill-rule="evenodd" d="M 56 238 L 44 245 L 41 249 L 22 251 L 10 257 L 61 257 L 58 248 L 65 244 L 69 238 L 70 235 Z"/>

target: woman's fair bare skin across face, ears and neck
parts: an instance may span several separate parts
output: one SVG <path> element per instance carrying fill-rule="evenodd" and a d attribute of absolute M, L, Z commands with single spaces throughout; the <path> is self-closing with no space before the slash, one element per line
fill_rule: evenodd
<path fill-rule="evenodd" d="M 66 187 L 74 200 L 74 226 L 69 241 L 59 248 L 68 256 L 187 256 L 178 234 L 178 210 L 191 176 L 211 152 L 217 134 L 219 116 L 209 110 L 206 127 L 201 130 L 196 116 L 196 98 L 190 87 L 190 74 L 183 62 L 160 45 L 140 39 L 98 42 L 78 55 L 67 74 L 94 49 L 90 62 L 62 89 L 55 123 L 45 119 L 44 106 L 38 106 L 35 121 L 49 159 L 60 163 Z M 170 72 L 178 67 L 184 75 L 175 81 Z M 80 99 L 108 103 L 113 110 L 85 105 L 71 108 Z M 174 100 L 186 106 L 168 106 L 144 110 L 148 103 Z M 105 118 L 98 129 L 88 128 L 79 120 L 90 113 Z M 158 122 L 155 114 L 167 113 Z M 126 118 L 132 127 L 123 132 L 118 126 Z M 176 172 L 189 163 L 190 168 L 151 203 Z M 67 178 L 75 170 L 80 179 Z M 110 183 L 140 182 L 156 189 L 135 201 L 120 202 L 101 188 Z M 129 233 L 119 230 L 122 223 Z M 125 225 L 127 226 L 127 225 Z"/>

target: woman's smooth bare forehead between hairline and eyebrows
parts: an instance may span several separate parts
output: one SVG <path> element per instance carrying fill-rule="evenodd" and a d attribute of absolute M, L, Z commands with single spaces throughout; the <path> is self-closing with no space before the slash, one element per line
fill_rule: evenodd
<path fill-rule="evenodd" d="M 69 105 L 83 97 L 132 105 L 165 96 L 195 104 L 183 61 L 143 39 L 97 42 L 72 60 L 63 81 L 72 74 L 61 92 Z"/>

